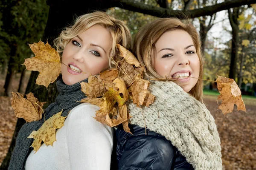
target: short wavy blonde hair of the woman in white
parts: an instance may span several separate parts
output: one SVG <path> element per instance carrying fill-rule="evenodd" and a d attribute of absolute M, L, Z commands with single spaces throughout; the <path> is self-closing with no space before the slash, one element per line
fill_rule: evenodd
<path fill-rule="evenodd" d="M 62 56 L 65 46 L 72 38 L 94 25 L 103 26 L 111 34 L 112 47 L 109 53 L 110 66 L 111 63 L 113 63 L 111 62 L 111 58 L 115 59 L 118 57 L 116 44 L 120 44 L 127 49 L 131 48 L 131 33 L 125 23 L 121 20 L 116 20 L 114 17 L 111 17 L 105 12 L 96 11 L 79 16 L 75 20 L 73 26 L 67 27 L 61 31 L 60 36 L 54 40 L 54 45 L 60 56 Z"/>

